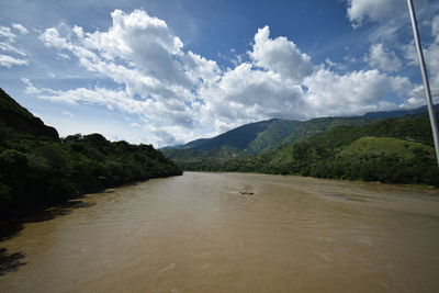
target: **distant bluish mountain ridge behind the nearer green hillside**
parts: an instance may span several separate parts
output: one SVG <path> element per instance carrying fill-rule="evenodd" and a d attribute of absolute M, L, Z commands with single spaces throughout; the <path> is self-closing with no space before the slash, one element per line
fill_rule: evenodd
<path fill-rule="evenodd" d="M 188 164 L 189 161 L 205 160 L 207 157 L 209 161 L 214 161 L 215 156 L 212 150 L 217 149 L 219 153 L 223 147 L 227 147 L 236 150 L 235 153 L 230 153 L 233 157 L 226 158 L 221 156 L 216 157 L 216 159 L 232 159 L 236 156 L 243 157 L 271 153 L 285 144 L 312 137 L 335 126 L 363 126 L 382 119 L 413 115 L 425 111 L 426 108 L 424 106 L 405 111 L 373 112 L 352 117 L 318 117 L 309 121 L 272 119 L 246 124 L 212 138 L 200 138 L 184 145 L 168 146 L 160 150 L 171 159 Z M 187 151 L 187 149 L 193 151 Z M 181 154 L 179 153 L 180 150 Z M 203 151 L 211 153 L 203 154 Z"/>

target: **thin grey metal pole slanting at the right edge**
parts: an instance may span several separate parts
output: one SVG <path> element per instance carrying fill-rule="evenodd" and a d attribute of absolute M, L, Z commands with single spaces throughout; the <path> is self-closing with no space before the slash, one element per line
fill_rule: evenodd
<path fill-rule="evenodd" d="M 427 69 L 426 69 L 425 60 L 424 60 L 423 47 L 420 45 L 419 30 L 418 30 L 418 24 L 417 24 L 417 21 L 416 21 L 416 15 L 415 15 L 415 8 L 413 5 L 413 1 L 412 0 L 407 0 L 407 4 L 408 4 L 408 10 L 410 12 L 413 35 L 414 35 L 414 38 L 415 38 L 416 49 L 418 52 L 419 67 L 420 67 L 420 72 L 423 75 L 424 89 L 425 89 L 425 92 L 426 92 L 428 114 L 430 116 L 430 123 L 431 123 L 432 138 L 435 140 L 436 159 L 438 160 L 438 166 L 439 166 L 438 123 L 436 121 L 435 109 L 432 106 L 430 83 L 428 82 L 428 75 L 427 75 Z"/>

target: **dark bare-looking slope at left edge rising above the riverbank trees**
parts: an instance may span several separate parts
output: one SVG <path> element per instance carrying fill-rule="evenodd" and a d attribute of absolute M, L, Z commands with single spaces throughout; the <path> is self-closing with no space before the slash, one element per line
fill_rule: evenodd
<path fill-rule="evenodd" d="M 21 133 L 59 140 L 58 132 L 54 127 L 44 125 L 41 119 L 32 115 L 2 89 L 0 89 L 0 124 Z"/>

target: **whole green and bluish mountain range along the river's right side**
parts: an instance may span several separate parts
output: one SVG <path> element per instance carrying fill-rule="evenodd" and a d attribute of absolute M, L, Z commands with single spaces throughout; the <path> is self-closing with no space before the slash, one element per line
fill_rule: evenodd
<path fill-rule="evenodd" d="M 161 151 L 183 170 L 439 185 L 425 108 L 305 122 L 270 120 Z"/>

